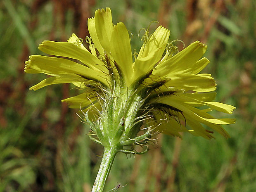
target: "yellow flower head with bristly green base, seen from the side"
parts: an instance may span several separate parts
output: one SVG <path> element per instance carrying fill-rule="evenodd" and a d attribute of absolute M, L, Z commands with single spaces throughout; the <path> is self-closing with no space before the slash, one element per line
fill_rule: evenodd
<path fill-rule="evenodd" d="M 75 34 L 67 42 L 46 40 L 38 47 L 41 51 L 66 59 L 32 55 L 25 72 L 52 76 L 33 90 L 58 83 L 81 88 L 80 95 L 62 102 L 82 110 L 97 135 L 91 136 L 93 140 L 105 147 L 118 144 L 119 151 L 131 152 L 123 146 L 142 144 L 153 129 L 178 137 L 188 132 L 212 138 L 213 132 L 202 124 L 230 137 L 222 125 L 235 119 L 216 119 L 208 113 L 231 114 L 235 107 L 213 102 L 216 83 L 211 74 L 200 73 L 209 63 L 201 58 L 206 45 L 196 41 L 178 52 L 168 43 L 170 31 L 159 26 L 152 35 L 145 30 L 144 43 L 133 59 L 128 30 L 122 22 L 113 25 L 109 8 L 98 9 L 88 19 L 88 29 L 90 51 Z M 143 129 L 145 133 L 137 136 Z"/>

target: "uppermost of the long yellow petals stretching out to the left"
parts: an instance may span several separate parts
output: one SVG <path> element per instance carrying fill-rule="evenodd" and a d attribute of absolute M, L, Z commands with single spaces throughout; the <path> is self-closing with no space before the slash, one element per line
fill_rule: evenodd
<path fill-rule="evenodd" d="M 50 55 L 77 59 L 95 71 L 107 71 L 100 59 L 92 55 L 90 52 L 81 49 L 81 47 L 77 46 L 75 43 L 46 40 L 43 41 L 38 48 Z M 102 75 L 104 75 L 104 73 L 102 73 Z"/>

